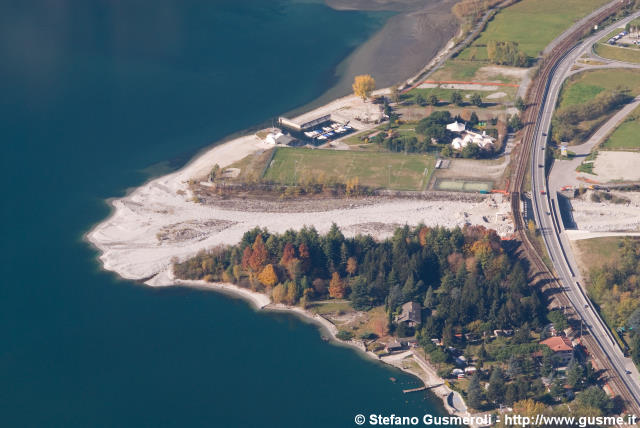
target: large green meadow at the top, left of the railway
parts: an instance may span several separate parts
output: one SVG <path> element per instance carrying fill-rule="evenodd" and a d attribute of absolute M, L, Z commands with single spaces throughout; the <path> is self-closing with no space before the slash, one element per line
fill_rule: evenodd
<path fill-rule="evenodd" d="M 500 11 L 459 58 L 486 60 L 490 40 L 517 42 L 535 58 L 564 30 L 605 3 L 608 0 L 522 0 Z"/>

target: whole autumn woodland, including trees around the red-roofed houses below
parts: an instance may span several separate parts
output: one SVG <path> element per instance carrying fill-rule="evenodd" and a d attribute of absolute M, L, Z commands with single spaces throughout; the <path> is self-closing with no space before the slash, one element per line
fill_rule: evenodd
<path fill-rule="evenodd" d="M 561 331 L 567 320 L 559 311 L 547 313 L 520 260 L 495 231 L 482 226 L 405 226 L 384 241 L 347 238 L 335 224 L 324 235 L 308 227 L 283 234 L 256 228 L 238 245 L 176 263 L 174 273 L 183 279 L 233 282 L 290 305 L 329 298 L 348 299 L 357 310 L 383 306 L 389 325 L 402 304 L 419 302 L 428 315 L 415 335 L 433 363 L 450 363 L 452 355 L 445 349 L 452 346 L 473 358 L 476 367 L 488 368 L 479 370 L 466 388 L 472 408 L 519 406 L 523 400 L 551 405 L 572 400 L 568 389 L 579 394 L 579 412 L 606 414 L 613 408 L 606 394 L 592 387 L 597 374 L 588 363 L 573 360 L 564 375 L 557 371 L 553 352 L 531 337 L 534 331 L 545 337 L 549 322 Z M 514 333 L 482 339 L 494 329 Z M 341 333 L 345 339 L 352 336 Z M 467 335 L 476 337 L 475 344 L 466 342 Z M 450 368 L 444 370 L 441 376 L 447 377 Z M 550 390 L 542 377 L 551 379 Z"/>

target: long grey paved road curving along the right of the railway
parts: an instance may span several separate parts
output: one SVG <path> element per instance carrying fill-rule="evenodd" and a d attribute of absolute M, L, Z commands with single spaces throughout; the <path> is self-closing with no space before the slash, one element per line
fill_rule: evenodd
<path fill-rule="evenodd" d="M 544 168 L 544 147 L 546 144 L 546 134 L 549 132 L 551 118 L 557 103 L 558 94 L 562 83 L 571 72 L 574 62 L 583 54 L 588 53 L 593 43 L 604 37 L 613 28 L 618 25 L 625 25 L 632 19 L 639 17 L 640 12 L 636 12 L 629 17 L 619 21 L 617 24 L 599 31 L 593 36 L 585 39 L 571 51 L 567 52 L 565 57 L 558 63 L 547 86 L 547 94 L 544 100 L 544 106 L 540 117 L 536 122 L 536 133 L 533 143 L 533 155 L 531 156 L 532 171 L 532 199 L 534 207 L 534 216 L 536 223 L 542 231 L 545 245 L 557 272 L 560 283 L 564 287 L 565 293 L 572 303 L 576 314 L 584 320 L 585 328 L 591 336 L 599 343 L 604 353 L 608 356 L 612 366 L 627 389 L 635 398 L 634 407 L 640 409 L 640 375 L 636 370 L 633 362 L 629 358 L 625 358 L 620 348 L 616 344 L 610 331 L 595 311 L 591 302 L 586 298 L 585 291 L 582 288 L 584 284 L 569 244 L 566 233 L 561 225 L 562 220 L 557 211 L 558 200 L 556 192 L 546 192 L 542 195 L 541 191 L 547 190 L 546 176 Z M 630 374 L 627 374 L 630 371 Z"/>

